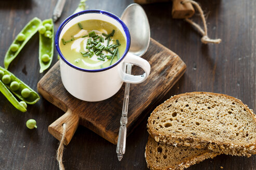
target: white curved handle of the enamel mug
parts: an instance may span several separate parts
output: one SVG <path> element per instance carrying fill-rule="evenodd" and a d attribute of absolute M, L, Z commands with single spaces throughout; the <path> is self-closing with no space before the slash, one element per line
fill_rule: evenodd
<path fill-rule="evenodd" d="M 142 59 L 139 56 L 128 52 L 126 57 L 124 58 L 124 63 L 130 63 L 130 64 L 133 64 L 133 65 L 137 65 L 140 68 L 142 68 L 145 72 L 143 75 L 138 75 L 138 76 L 134 76 L 134 75 L 124 73 L 124 76 L 123 76 L 123 81 L 124 82 L 135 83 L 136 84 L 136 83 L 143 82 L 147 79 L 147 77 L 150 73 L 150 64 L 148 63 L 147 60 Z"/>

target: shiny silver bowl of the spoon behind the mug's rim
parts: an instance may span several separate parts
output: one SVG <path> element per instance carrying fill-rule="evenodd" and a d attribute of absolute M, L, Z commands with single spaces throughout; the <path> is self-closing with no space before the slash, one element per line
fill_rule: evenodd
<path fill-rule="evenodd" d="M 147 51 L 150 41 L 150 27 L 144 9 L 138 4 L 131 4 L 125 8 L 121 19 L 127 25 L 131 34 L 129 52 L 142 56 Z"/>

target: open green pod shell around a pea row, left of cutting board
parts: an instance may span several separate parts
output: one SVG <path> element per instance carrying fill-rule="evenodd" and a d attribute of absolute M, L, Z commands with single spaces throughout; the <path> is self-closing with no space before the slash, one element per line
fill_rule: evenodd
<path fill-rule="evenodd" d="M 10 76 L 10 82 L 7 84 L 4 84 L 13 94 L 15 94 L 20 100 L 24 101 L 27 104 L 35 104 L 37 101 L 40 100 L 39 94 L 37 94 L 33 89 L 31 89 L 27 84 L 22 82 L 20 79 L 18 79 L 14 74 L 10 73 L 7 69 L 0 66 L 0 70 L 4 72 L 4 75 Z M 18 82 L 19 88 L 17 90 L 13 90 L 13 88 L 10 88 L 11 82 L 16 81 Z M 26 97 L 23 97 L 21 95 L 21 91 L 23 89 L 29 89 L 30 94 Z"/>

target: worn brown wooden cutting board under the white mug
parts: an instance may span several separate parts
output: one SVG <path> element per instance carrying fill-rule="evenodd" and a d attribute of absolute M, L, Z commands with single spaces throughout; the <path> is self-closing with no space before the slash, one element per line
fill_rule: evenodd
<path fill-rule="evenodd" d="M 150 65 L 151 72 L 146 81 L 131 84 L 127 135 L 145 118 L 142 112 L 160 100 L 184 74 L 185 63 L 181 58 L 151 38 L 148 51 L 143 56 Z M 132 74 L 142 74 L 136 66 Z M 58 140 L 67 125 L 65 145 L 68 145 L 78 125 L 81 124 L 113 144 L 117 144 L 120 118 L 123 106 L 124 84 L 117 94 L 100 102 L 81 101 L 67 92 L 60 77 L 57 62 L 37 84 L 39 93 L 50 103 L 66 113 L 48 127 L 48 131 Z"/>

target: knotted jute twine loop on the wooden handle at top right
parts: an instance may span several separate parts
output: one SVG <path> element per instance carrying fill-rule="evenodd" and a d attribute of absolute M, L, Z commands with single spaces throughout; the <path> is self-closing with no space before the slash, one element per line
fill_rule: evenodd
<path fill-rule="evenodd" d="M 202 19 L 202 22 L 203 22 L 203 29 L 201 29 L 200 25 L 198 25 L 197 23 L 193 22 L 192 20 L 186 18 L 185 21 L 187 21 L 188 23 L 190 23 L 191 25 L 195 26 L 196 29 L 199 31 L 199 33 L 202 34 L 202 38 L 201 38 L 201 41 L 203 44 L 208 44 L 208 43 L 214 43 L 214 44 L 219 44 L 221 43 L 221 39 L 211 39 L 208 37 L 207 35 L 207 25 L 206 25 L 206 18 L 204 17 L 203 15 L 203 11 L 202 11 L 202 8 L 201 6 L 195 2 L 195 1 L 192 1 L 192 0 L 185 0 L 185 1 L 182 1 L 181 2 L 182 4 L 184 3 L 191 3 L 193 4 L 197 10 L 199 11 L 200 13 L 200 17 Z"/>

